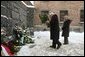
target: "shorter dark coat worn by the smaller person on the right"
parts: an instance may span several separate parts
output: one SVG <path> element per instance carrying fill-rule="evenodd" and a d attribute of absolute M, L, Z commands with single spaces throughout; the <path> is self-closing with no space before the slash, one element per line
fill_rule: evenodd
<path fill-rule="evenodd" d="M 71 20 L 66 20 L 62 27 L 62 36 L 69 37 L 69 27 L 70 27 Z"/>

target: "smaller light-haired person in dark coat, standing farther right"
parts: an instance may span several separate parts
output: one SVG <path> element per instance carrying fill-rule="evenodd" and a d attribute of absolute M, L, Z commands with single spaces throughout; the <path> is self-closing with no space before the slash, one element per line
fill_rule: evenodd
<path fill-rule="evenodd" d="M 68 16 L 65 16 L 65 21 L 62 27 L 62 36 L 64 37 L 64 44 L 68 44 L 69 37 L 69 27 L 72 20 L 68 19 Z"/>

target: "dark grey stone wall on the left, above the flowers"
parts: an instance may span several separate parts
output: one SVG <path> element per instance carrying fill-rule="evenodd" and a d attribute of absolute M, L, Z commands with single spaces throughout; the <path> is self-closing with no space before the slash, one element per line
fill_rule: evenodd
<path fill-rule="evenodd" d="M 33 26 L 33 10 L 29 11 L 29 9 L 30 8 L 23 5 L 21 1 L 1 1 L 1 15 L 8 18 L 1 17 L 1 27 L 5 27 L 7 33 L 12 34 L 12 28 L 16 23 L 23 29 L 29 27 L 28 25 L 30 24 L 30 21 L 31 26 Z M 27 11 L 31 14 L 27 14 Z"/>

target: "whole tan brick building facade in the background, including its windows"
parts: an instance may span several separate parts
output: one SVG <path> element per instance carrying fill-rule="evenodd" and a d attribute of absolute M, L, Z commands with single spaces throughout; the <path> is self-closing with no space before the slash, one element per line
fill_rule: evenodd
<path fill-rule="evenodd" d="M 84 24 L 84 1 L 35 1 L 35 25 L 41 25 L 39 14 L 55 12 L 62 25 L 64 15 L 68 15 L 72 21 L 71 26 Z"/>

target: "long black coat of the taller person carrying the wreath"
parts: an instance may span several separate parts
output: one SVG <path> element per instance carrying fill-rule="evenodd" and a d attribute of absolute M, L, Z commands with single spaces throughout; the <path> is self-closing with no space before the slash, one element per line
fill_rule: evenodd
<path fill-rule="evenodd" d="M 52 40 L 56 40 L 56 42 L 59 40 L 59 30 L 58 16 L 55 14 L 50 21 L 50 37 Z"/>

